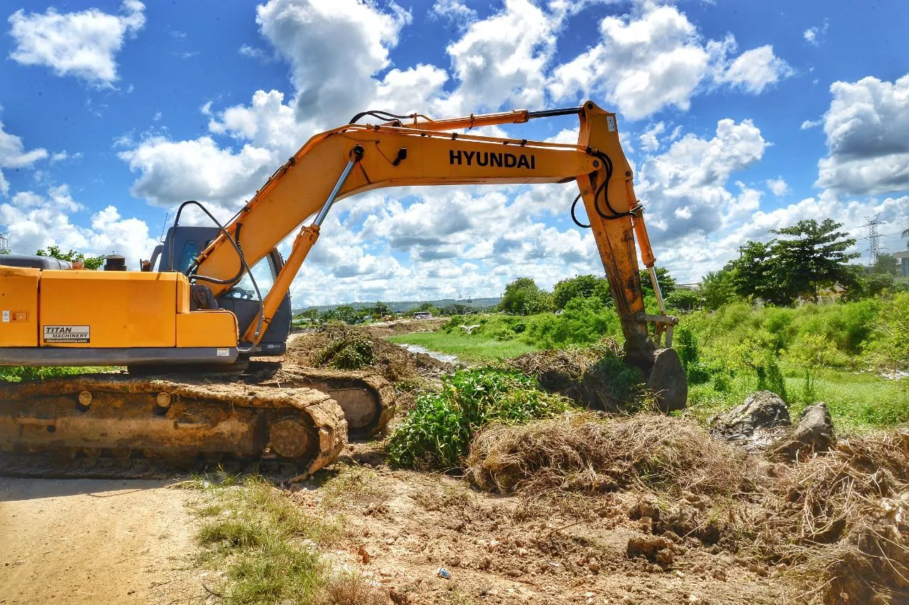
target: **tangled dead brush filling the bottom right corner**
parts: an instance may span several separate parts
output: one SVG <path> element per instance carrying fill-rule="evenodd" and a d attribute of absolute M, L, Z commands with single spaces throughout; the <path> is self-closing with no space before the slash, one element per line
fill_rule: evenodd
<path fill-rule="evenodd" d="M 909 599 L 909 432 L 840 441 L 780 479 L 757 546 L 824 604 Z"/>

